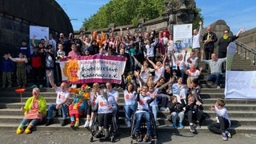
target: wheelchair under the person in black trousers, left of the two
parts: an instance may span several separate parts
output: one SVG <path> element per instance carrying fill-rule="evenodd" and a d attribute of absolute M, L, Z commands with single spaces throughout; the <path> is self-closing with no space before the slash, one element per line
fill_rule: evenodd
<path fill-rule="evenodd" d="M 90 142 L 94 141 L 95 134 L 98 132 L 98 113 L 94 113 L 93 122 L 91 126 L 91 134 L 90 134 Z M 116 134 L 118 133 L 118 123 L 116 119 L 116 113 L 112 113 L 112 121 L 109 126 L 109 134 L 110 134 L 110 142 L 114 142 L 114 138 Z M 101 138 L 104 136 L 104 130 L 102 130 Z"/>

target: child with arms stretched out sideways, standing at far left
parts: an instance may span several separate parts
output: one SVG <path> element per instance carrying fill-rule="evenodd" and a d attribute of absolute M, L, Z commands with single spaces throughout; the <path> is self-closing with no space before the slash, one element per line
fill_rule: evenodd
<path fill-rule="evenodd" d="M 19 53 L 18 58 L 11 58 L 9 55 L 10 60 L 13 62 L 16 62 L 16 74 L 17 74 L 17 80 L 18 80 L 18 88 L 20 87 L 26 87 L 26 63 L 27 58 L 26 54 Z"/>

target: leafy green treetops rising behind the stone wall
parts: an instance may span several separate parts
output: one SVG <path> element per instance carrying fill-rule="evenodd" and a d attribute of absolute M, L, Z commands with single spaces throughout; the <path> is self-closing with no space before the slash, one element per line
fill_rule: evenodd
<path fill-rule="evenodd" d="M 158 18 L 165 12 L 165 0 L 110 0 L 99 8 L 90 18 L 85 18 L 83 27 L 87 30 L 106 28 L 110 23 L 115 26 L 136 25 L 140 18 Z M 200 9 L 195 12 L 194 28 L 202 20 Z"/>

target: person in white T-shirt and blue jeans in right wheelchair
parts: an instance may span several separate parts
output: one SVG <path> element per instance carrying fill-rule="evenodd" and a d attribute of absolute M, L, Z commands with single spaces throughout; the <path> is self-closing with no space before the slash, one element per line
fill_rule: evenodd
<path fill-rule="evenodd" d="M 140 89 L 138 89 L 139 91 Z M 154 94 L 153 97 L 148 96 L 146 93 L 148 91 L 148 86 L 142 86 L 142 91 L 137 95 L 136 101 L 138 102 L 138 110 L 134 114 L 133 126 L 131 129 L 131 136 L 136 138 L 138 142 L 142 141 L 142 134 L 140 134 L 140 128 L 142 124 L 142 118 L 146 120 L 146 134 L 143 138 L 144 142 L 149 142 L 154 131 L 152 126 L 155 126 L 154 116 L 150 112 L 150 102 L 154 101 L 157 94 Z M 153 120 L 152 120 L 153 119 Z M 152 123 L 153 122 L 153 123 Z"/>

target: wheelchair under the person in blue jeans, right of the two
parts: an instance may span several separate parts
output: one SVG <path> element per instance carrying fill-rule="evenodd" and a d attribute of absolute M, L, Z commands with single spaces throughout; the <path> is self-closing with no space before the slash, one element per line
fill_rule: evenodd
<path fill-rule="evenodd" d="M 145 115 L 142 116 L 142 123 L 141 123 L 141 127 L 140 127 L 140 140 L 136 139 L 135 138 L 135 135 L 134 135 L 134 132 L 135 132 L 135 125 L 136 125 L 136 112 L 138 110 L 136 110 L 132 116 L 132 119 L 131 119 L 131 129 L 130 129 L 130 143 L 134 143 L 134 140 L 135 140 L 135 143 L 139 143 L 139 142 L 143 142 L 142 139 L 144 138 L 144 135 L 146 134 L 146 118 L 145 118 Z M 157 126 L 156 126 L 156 123 L 154 121 L 154 115 L 151 111 L 150 112 L 150 122 L 151 122 L 151 127 L 152 127 L 152 134 L 150 136 L 150 141 L 151 143 L 158 143 L 158 132 L 157 132 Z M 144 135 L 143 135 L 144 134 Z M 144 142 L 143 142 L 144 143 Z"/>

